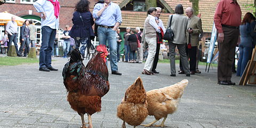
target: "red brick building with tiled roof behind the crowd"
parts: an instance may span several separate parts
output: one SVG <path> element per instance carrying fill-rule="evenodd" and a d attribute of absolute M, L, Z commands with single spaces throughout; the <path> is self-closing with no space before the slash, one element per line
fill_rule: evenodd
<path fill-rule="evenodd" d="M 41 18 L 40 13 L 37 13 L 34 9 L 33 3 L 37 0 L 6 0 L 6 3 L 0 5 L 0 12 L 7 11 L 24 19 L 33 19 L 37 27 L 37 42 L 40 41 L 40 31 L 41 31 Z M 92 12 L 93 6 L 98 0 L 89 0 L 90 11 Z M 145 0 L 111 0 L 112 2 L 118 4 L 121 7 L 122 19 L 123 22 L 119 28 L 121 31 L 125 31 L 126 27 L 141 27 L 143 29 L 143 24 L 145 18 L 147 17 L 146 13 L 146 4 Z M 162 7 L 165 10 L 165 13 L 162 13 L 161 19 L 163 20 L 164 25 L 167 25 L 168 17 L 171 13 L 174 12 L 175 6 L 177 4 L 182 4 L 184 9 L 188 6 L 192 6 L 190 0 L 157 0 L 157 6 Z M 73 12 L 75 9 L 75 4 L 78 0 L 59 0 L 60 8 L 60 30 L 63 30 L 66 25 L 70 27 L 73 25 L 71 19 L 73 17 Z M 199 13 L 201 13 L 202 26 L 205 33 L 206 42 L 209 41 L 211 37 L 211 30 L 213 24 L 213 15 L 215 12 L 215 7 L 219 1 L 211 0 L 200 0 L 199 1 Z M 239 5 L 242 9 L 242 16 L 246 12 L 253 12 L 253 9 L 250 9 L 246 5 L 253 4 L 253 0 L 238 0 Z M 249 8 L 249 9 L 248 9 Z M 1 28 L 0 28 L 1 29 Z M 2 27 L 3 30 L 3 27 Z"/>

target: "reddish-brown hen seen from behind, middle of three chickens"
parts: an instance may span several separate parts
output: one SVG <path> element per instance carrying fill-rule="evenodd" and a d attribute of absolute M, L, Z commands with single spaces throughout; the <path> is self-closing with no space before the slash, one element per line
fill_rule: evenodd
<path fill-rule="evenodd" d="M 117 107 L 117 116 L 124 122 L 122 128 L 125 128 L 125 122 L 134 126 L 140 125 L 148 116 L 146 91 L 143 87 L 141 78 L 128 87 L 125 96 Z"/>

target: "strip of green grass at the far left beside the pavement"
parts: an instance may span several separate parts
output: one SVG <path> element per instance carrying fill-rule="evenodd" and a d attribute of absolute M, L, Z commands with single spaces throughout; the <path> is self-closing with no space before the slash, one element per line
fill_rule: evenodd
<path fill-rule="evenodd" d="M 21 57 L 0 57 L 0 66 L 15 66 L 26 63 L 38 63 L 38 59 Z"/>

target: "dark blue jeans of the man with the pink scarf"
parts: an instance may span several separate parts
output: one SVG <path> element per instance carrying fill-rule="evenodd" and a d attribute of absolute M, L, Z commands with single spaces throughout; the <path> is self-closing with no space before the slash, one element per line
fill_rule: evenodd
<path fill-rule="evenodd" d="M 56 29 L 48 26 L 42 27 L 42 44 L 39 54 L 39 68 L 52 67 L 52 47 L 56 35 Z"/>

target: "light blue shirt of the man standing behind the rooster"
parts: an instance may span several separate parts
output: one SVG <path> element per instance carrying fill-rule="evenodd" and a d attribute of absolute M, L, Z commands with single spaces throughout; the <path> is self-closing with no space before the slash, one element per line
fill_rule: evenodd
<path fill-rule="evenodd" d="M 103 4 L 98 3 L 94 6 L 94 9 L 92 12 L 93 18 L 96 19 L 95 23 L 97 25 L 115 26 L 116 22 L 119 22 L 121 24 L 122 22 L 121 9 L 117 4 L 110 2 L 107 9 L 105 9 L 100 15 L 100 17 L 98 17 L 97 13 L 102 8 L 103 8 Z"/>

